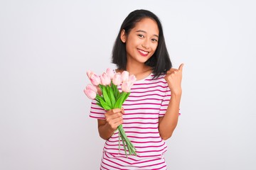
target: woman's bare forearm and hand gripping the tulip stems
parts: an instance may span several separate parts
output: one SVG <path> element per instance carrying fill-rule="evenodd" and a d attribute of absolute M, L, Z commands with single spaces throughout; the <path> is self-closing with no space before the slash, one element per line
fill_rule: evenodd
<path fill-rule="evenodd" d="M 123 113 L 123 108 L 114 108 L 105 113 L 105 120 L 97 120 L 99 134 L 103 140 L 110 139 L 117 127 L 122 124 Z"/>

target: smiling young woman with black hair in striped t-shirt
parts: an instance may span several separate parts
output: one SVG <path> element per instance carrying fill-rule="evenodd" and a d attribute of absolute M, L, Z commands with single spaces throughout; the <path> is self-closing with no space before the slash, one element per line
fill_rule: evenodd
<path fill-rule="evenodd" d="M 112 51 L 115 72 L 137 77 L 123 108 L 104 111 L 92 101 L 90 117 L 97 118 L 106 140 L 100 169 L 166 169 L 165 140 L 178 122 L 183 64 L 172 69 L 159 18 L 136 10 L 124 19 Z M 137 149 L 137 156 L 119 152 L 118 125 Z"/>

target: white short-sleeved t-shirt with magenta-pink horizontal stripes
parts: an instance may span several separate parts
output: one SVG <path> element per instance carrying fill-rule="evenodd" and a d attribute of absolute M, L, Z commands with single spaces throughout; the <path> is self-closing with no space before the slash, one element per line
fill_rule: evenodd
<path fill-rule="evenodd" d="M 159 135 L 159 117 L 166 113 L 171 91 L 164 75 L 136 81 L 124 101 L 123 128 L 136 148 L 137 156 L 125 156 L 118 131 L 105 142 L 100 169 L 166 169 L 163 154 L 167 145 Z M 106 111 L 92 101 L 90 117 L 105 119 Z"/>

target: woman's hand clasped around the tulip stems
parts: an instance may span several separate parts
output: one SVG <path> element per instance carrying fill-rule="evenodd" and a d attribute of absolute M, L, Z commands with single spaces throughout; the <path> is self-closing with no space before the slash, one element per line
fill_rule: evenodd
<path fill-rule="evenodd" d="M 114 108 L 105 113 L 106 124 L 110 128 L 110 130 L 117 130 L 117 127 L 123 123 L 123 114 L 124 108 Z"/>

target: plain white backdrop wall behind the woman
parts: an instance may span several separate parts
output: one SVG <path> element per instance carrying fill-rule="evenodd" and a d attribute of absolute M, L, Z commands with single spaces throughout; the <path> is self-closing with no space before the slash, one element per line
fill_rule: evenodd
<path fill-rule="evenodd" d="M 0 169 L 99 169 L 86 71 L 110 63 L 129 12 L 164 26 L 183 68 L 171 170 L 256 169 L 255 1 L 0 1 Z"/>

